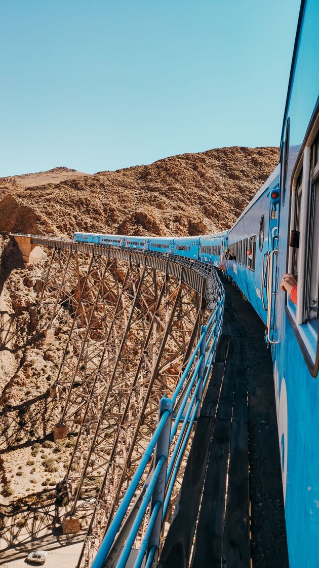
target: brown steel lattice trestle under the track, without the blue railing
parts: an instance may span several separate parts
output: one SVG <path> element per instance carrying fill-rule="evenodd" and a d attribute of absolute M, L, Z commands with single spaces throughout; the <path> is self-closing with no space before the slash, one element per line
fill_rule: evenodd
<path fill-rule="evenodd" d="M 78 563 L 89 566 L 156 427 L 159 400 L 173 393 L 223 287 L 198 261 L 11 236 L 26 263 L 36 247 L 49 249 L 39 304 L 50 315 L 46 343 L 61 325 L 68 329 L 50 389 L 59 416 L 54 439 L 78 437 L 57 516 L 65 533 L 79 530 L 79 512 L 91 519 Z M 182 460 L 181 476 L 183 467 Z"/>

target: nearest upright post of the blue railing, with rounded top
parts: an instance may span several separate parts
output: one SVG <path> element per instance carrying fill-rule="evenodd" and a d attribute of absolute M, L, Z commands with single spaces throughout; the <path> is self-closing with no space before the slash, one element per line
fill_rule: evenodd
<path fill-rule="evenodd" d="M 159 549 L 159 538 L 161 537 L 162 530 L 162 513 L 163 513 L 163 503 L 165 498 L 165 483 L 166 483 L 166 472 L 167 472 L 167 461 L 169 458 L 169 447 L 170 447 L 170 433 L 171 433 L 171 420 L 173 416 L 173 403 L 169 398 L 163 396 L 161 402 L 159 403 L 158 412 L 158 422 L 161 420 L 163 412 L 166 410 L 170 411 L 170 415 L 167 417 L 165 426 L 162 429 L 161 435 L 158 438 L 158 442 L 155 448 L 154 456 L 154 469 L 157 466 L 158 460 L 161 456 L 165 456 L 165 462 L 161 469 L 161 473 L 158 476 L 156 486 L 154 488 L 152 501 L 150 504 L 149 517 L 152 515 L 155 504 L 159 501 L 160 506 L 157 512 L 156 521 L 154 523 L 153 531 L 150 534 L 148 552 L 152 547 L 156 546 L 156 552 L 153 557 L 152 566 L 157 566 L 158 559 L 158 549 Z M 147 556 L 146 556 L 147 557 Z"/>

